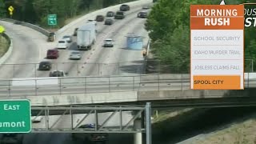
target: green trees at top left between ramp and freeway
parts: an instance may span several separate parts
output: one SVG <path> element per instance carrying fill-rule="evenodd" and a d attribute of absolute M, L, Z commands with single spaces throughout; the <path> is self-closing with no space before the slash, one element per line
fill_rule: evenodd
<path fill-rule="evenodd" d="M 132 1 L 134 0 L 0 0 L 0 18 L 10 18 L 8 7 L 13 6 L 12 18 L 16 20 L 47 26 L 48 14 L 57 14 L 58 27 L 62 27 L 67 18 Z"/>

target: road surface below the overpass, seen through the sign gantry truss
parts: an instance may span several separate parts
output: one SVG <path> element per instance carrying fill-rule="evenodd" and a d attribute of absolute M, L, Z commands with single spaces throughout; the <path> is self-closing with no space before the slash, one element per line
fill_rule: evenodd
<path fill-rule="evenodd" d="M 98 124 L 102 125 L 102 122 L 104 122 L 106 120 L 107 117 L 110 116 L 110 112 L 109 113 L 102 113 L 102 114 L 98 114 Z M 74 126 L 76 126 L 76 124 L 78 124 L 78 122 L 81 121 L 81 119 L 85 116 L 86 114 L 74 114 Z M 49 121 L 50 121 L 50 125 L 49 126 L 53 126 L 54 122 L 56 120 L 58 120 L 59 116 L 50 116 L 49 117 Z M 109 122 L 106 123 L 106 127 L 107 126 L 118 126 L 118 122 L 119 122 L 119 114 L 115 114 L 113 118 L 110 119 Z M 125 126 L 127 122 L 130 121 L 130 119 L 132 118 L 132 115 L 130 114 L 129 111 L 124 111 L 122 112 L 122 126 Z M 90 114 L 85 121 L 83 121 L 80 125 L 82 124 L 88 124 L 88 123 L 94 123 L 95 117 L 94 114 Z M 32 126 L 33 128 L 45 128 L 45 118 L 43 117 L 41 122 L 38 123 L 33 123 Z M 56 126 L 58 126 L 58 128 L 70 128 L 70 115 L 65 115 L 62 117 L 62 119 L 60 121 L 58 121 L 53 128 L 56 128 Z M 133 123 L 130 124 L 130 126 L 132 126 Z M 1 134 L 0 134 L 1 135 Z M 75 141 L 72 140 L 71 138 L 71 134 L 24 134 L 25 138 L 23 140 L 23 144 L 44 144 L 46 142 L 48 143 L 54 143 L 54 144 L 63 144 L 63 143 L 83 143 L 80 142 L 79 140 Z M 120 135 L 128 137 L 131 139 L 130 142 L 133 142 L 133 134 L 110 134 L 110 141 L 109 143 L 113 143 L 113 142 L 120 142 L 122 138 L 119 138 Z"/>

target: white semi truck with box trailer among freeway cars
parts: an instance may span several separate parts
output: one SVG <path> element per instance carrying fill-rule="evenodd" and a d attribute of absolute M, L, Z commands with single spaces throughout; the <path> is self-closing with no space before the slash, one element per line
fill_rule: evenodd
<path fill-rule="evenodd" d="M 96 42 L 96 22 L 86 22 L 84 26 L 78 28 L 77 44 L 78 50 L 90 50 Z"/>

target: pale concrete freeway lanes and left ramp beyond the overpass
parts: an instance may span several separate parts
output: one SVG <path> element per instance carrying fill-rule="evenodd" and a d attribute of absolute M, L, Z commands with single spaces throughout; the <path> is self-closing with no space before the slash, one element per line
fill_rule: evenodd
<path fill-rule="evenodd" d="M 149 3 L 148 0 L 143 0 L 142 3 Z M 119 70 L 117 66 L 113 66 L 108 63 L 127 62 L 125 65 L 132 66 L 134 69 L 132 73 L 138 73 L 142 70 L 142 62 L 136 63 L 134 61 L 142 61 L 142 54 L 140 50 L 126 50 L 126 35 L 127 33 L 136 33 L 143 37 L 148 37 L 146 30 L 144 30 L 143 24 L 146 19 L 137 18 L 137 14 L 142 10 L 143 5 L 131 6 L 130 11 L 126 12 L 126 18 L 122 20 L 114 20 L 112 26 L 105 26 L 104 22 L 98 22 L 97 29 L 97 42 L 93 46 L 92 50 L 82 51 L 82 59 L 78 61 L 69 60 L 71 50 L 77 50 L 76 37 L 73 38 L 74 42 L 70 43 L 68 50 L 60 50 L 60 57 L 58 59 L 50 60 L 51 62 L 57 62 L 58 64 L 53 66 L 52 70 L 65 70 L 69 74 L 68 76 L 88 76 L 88 75 L 112 75 L 112 74 L 130 74 L 130 71 L 124 69 Z M 118 8 L 114 9 L 118 10 Z M 62 38 L 63 35 L 72 35 L 74 28 L 82 26 L 89 19 L 94 19 L 97 14 L 105 15 L 108 10 L 102 10 L 100 12 L 94 12 L 90 15 L 90 18 L 84 18 L 82 21 L 70 26 L 67 30 L 59 30 L 57 32 L 58 39 Z M 34 30 L 11 30 L 14 24 L 9 22 L 2 22 L 3 26 L 6 26 L 6 31 L 10 30 L 14 33 L 11 35 L 14 39 L 14 49 L 22 50 L 16 55 L 11 56 L 12 61 L 7 61 L 7 64 L 16 63 L 13 65 L 2 66 L 0 78 L 34 78 L 34 77 L 47 77 L 50 71 L 38 71 L 38 65 L 28 63 L 41 62 L 46 57 L 46 50 L 52 49 L 57 45 L 57 42 L 46 42 L 46 37 Z M 15 31 L 16 30 L 16 31 Z M 24 33 L 27 31 L 28 33 Z M 18 36 L 18 32 L 23 34 L 24 38 Z M 31 34 L 30 34 L 31 33 Z M 17 38 L 16 38 L 17 37 Z M 113 48 L 102 47 L 103 40 L 105 38 L 114 39 Z M 32 41 L 31 41 L 32 39 Z M 39 42 L 38 42 L 39 41 Z M 147 38 L 144 40 L 146 45 Z M 22 45 L 20 45 L 22 43 Z M 22 46 L 22 49 L 21 49 Z M 24 50 L 25 49 L 25 50 Z M 32 50 L 31 50 L 32 49 Z M 26 55 L 24 55 L 24 51 Z M 15 51 L 16 52 L 16 51 Z M 22 57 L 26 58 L 26 61 L 22 61 Z M 72 62 L 72 63 L 70 63 Z M 26 65 L 17 65 L 18 63 L 27 63 Z M 75 64 L 79 63 L 79 64 Z M 87 64 L 93 63 L 93 64 Z M 101 66 L 101 70 L 98 70 L 98 66 L 94 63 L 106 63 Z"/>

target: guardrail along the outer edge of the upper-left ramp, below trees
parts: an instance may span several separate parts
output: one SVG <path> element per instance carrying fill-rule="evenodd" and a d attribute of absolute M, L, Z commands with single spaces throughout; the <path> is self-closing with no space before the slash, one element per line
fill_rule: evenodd
<path fill-rule="evenodd" d="M 31 23 L 28 23 L 28 22 L 21 22 L 21 21 L 18 21 L 18 20 L 10 19 L 10 18 L 0 18 L 0 20 L 1 21 L 6 21 L 6 22 L 12 22 L 12 23 L 17 24 L 17 25 L 30 27 L 31 29 L 37 30 L 38 32 L 46 35 L 47 37 L 50 35 L 50 32 L 48 30 L 45 30 L 40 26 L 36 26 L 36 25 L 33 25 Z"/>

